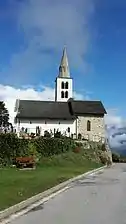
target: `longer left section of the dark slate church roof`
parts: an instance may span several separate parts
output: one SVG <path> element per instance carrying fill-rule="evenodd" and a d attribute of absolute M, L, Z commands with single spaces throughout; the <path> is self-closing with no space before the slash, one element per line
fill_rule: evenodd
<path fill-rule="evenodd" d="M 20 100 L 18 111 L 20 118 L 74 119 L 63 102 Z"/>

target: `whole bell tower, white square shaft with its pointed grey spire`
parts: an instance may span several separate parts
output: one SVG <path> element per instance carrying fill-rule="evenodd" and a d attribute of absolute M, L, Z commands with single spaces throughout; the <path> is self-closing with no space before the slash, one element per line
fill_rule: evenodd
<path fill-rule="evenodd" d="M 61 63 L 59 66 L 59 74 L 56 78 L 55 85 L 55 101 L 67 102 L 73 97 L 73 80 L 70 77 L 69 64 L 66 48 L 63 50 Z"/>

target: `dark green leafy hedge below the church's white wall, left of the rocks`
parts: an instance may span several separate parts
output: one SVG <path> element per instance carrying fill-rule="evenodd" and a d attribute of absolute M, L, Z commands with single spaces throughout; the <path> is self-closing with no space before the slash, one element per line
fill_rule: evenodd
<path fill-rule="evenodd" d="M 0 134 L 0 164 L 12 164 L 19 156 L 39 154 L 50 156 L 61 154 L 75 147 L 74 141 L 69 138 L 20 139 L 14 133 Z"/>

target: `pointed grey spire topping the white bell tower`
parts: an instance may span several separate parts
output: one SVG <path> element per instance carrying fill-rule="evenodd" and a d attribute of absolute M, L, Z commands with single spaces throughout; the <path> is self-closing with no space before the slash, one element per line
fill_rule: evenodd
<path fill-rule="evenodd" d="M 70 78 L 70 72 L 69 72 L 69 64 L 68 64 L 68 58 L 67 58 L 67 52 L 66 47 L 63 49 L 63 55 L 61 58 L 61 63 L 59 66 L 59 78 Z"/>

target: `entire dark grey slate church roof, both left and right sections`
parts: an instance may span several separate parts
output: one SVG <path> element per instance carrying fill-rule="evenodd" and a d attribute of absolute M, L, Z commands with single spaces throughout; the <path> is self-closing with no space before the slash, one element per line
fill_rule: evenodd
<path fill-rule="evenodd" d="M 20 100 L 17 118 L 35 119 L 75 119 L 76 116 L 94 114 L 104 115 L 101 101 L 34 101 Z"/>

